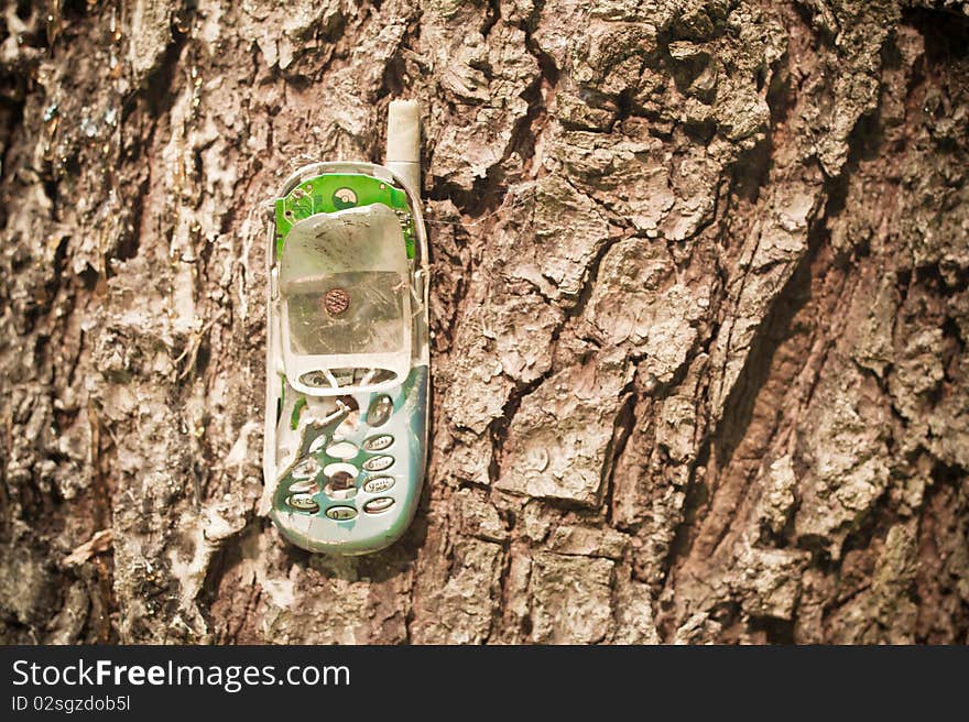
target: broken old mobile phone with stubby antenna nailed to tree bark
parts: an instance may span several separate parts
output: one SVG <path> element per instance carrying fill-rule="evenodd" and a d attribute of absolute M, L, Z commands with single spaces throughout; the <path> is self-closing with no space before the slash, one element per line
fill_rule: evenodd
<path fill-rule="evenodd" d="M 306 165 L 270 204 L 270 515 L 311 551 L 401 537 L 427 456 L 427 237 L 414 101 L 388 113 L 386 162 Z"/>

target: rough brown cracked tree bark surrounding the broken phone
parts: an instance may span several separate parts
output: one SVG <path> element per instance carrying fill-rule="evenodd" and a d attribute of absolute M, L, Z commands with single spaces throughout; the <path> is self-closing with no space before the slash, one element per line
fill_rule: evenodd
<path fill-rule="evenodd" d="M 0 637 L 960 642 L 969 2 L 7 0 Z M 261 203 L 425 112 L 433 453 L 261 494 Z"/>

